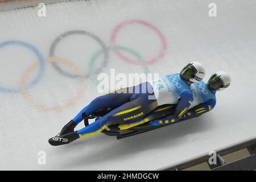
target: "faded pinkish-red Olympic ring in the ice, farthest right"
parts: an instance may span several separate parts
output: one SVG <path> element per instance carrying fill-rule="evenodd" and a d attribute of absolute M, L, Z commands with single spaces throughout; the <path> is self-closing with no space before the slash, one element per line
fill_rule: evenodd
<path fill-rule="evenodd" d="M 143 60 L 143 61 L 137 61 L 137 60 L 132 60 L 129 59 L 128 57 L 122 55 L 122 53 L 120 53 L 118 50 L 115 50 L 115 54 L 117 54 L 122 60 L 131 63 L 131 64 L 137 64 L 137 65 L 143 65 L 143 64 L 154 64 L 157 61 L 159 61 L 160 59 L 162 59 L 166 53 L 166 49 L 167 49 L 167 43 L 166 43 L 166 38 L 164 38 L 164 35 L 162 34 L 162 32 L 156 28 L 154 25 L 152 25 L 151 23 L 148 23 L 146 21 L 143 20 L 138 20 L 138 19 L 131 19 L 131 20 L 126 20 L 124 22 L 121 22 L 117 25 L 117 27 L 114 28 L 111 38 L 110 38 L 110 45 L 111 46 L 115 46 L 116 45 L 116 38 L 117 38 L 117 34 L 119 32 L 119 30 L 121 30 L 123 27 L 129 25 L 129 24 L 142 24 L 143 26 L 146 26 L 148 28 L 151 28 L 153 31 L 156 32 L 156 34 L 159 36 L 161 43 L 162 43 L 162 48 L 160 49 L 160 53 L 158 56 L 150 59 L 150 60 Z"/>

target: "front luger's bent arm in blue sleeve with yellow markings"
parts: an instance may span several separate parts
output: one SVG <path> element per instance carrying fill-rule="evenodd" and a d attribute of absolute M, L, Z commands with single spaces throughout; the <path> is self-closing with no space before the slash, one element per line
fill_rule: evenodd
<path fill-rule="evenodd" d="M 193 102 L 193 93 L 191 90 L 182 93 L 180 95 L 179 102 L 177 103 L 174 114 L 169 115 L 166 118 L 155 119 L 151 121 L 150 124 L 157 126 L 157 125 L 163 125 L 163 124 L 168 124 L 170 122 L 178 121 L 183 117 L 183 115 L 187 111 L 188 107 L 192 104 L 192 102 Z"/>

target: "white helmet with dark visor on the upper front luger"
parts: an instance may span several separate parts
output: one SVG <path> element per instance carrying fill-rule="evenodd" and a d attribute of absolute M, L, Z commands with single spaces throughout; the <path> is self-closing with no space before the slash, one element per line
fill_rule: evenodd
<path fill-rule="evenodd" d="M 187 64 L 180 72 L 180 77 L 192 83 L 200 82 L 205 76 L 205 68 L 199 62 Z"/>

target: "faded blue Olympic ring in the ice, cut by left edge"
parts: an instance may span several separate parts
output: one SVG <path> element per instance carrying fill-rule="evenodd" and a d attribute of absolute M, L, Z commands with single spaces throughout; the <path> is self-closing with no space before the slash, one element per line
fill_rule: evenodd
<path fill-rule="evenodd" d="M 42 54 L 38 51 L 38 49 L 36 49 L 34 46 L 32 46 L 31 44 L 28 44 L 26 42 L 19 41 L 19 40 L 10 40 L 10 41 L 6 41 L 6 42 L 2 42 L 2 43 L 0 43 L 0 48 L 6 47 L 6 46 L 13 46 L 13 45 L 18 45 L 18 46 L 28 48 L 32 52 L 35 53 L 36 57 L 38 57 L 38 61 L 39 61 L 39 64 L 40 64 L 39 73 L 35 77 L 35 79 L 27 85 L 28 88 L 30 88 L 31 86 L 37 84 L 43 76 L 44 58 L 43 58 Z M 4 87 L 0 86 L 0 92 L 3 92 L 3 93 L 19 93 L 20 89 L 19 88 L 4 88 Z"/>

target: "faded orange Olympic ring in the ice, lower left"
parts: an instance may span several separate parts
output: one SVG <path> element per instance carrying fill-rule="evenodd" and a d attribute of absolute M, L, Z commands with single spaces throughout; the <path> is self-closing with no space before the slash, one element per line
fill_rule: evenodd
<path fill-rule="evenodd" d="M 60 63 L 60 64 L 64 64 L 67 65 L 68 67 L 72 68 L 77 75 L 81 75 L 81 71 L 78 67 L 76 67 L 73 63 L 61 59 L 60 57 L 49 57 L 46 59 L 46 63 Z M 63 106 L 53 106 L 53 107 L 48 107 L 45 105 L 39 105 L 36 104 L 36 102 L 34 100 L 32 100 L 32 98 L 30 98 L 30 95 L 28 94 L 28 90 L 26 88 L 26 80 L 28 78 L 28 76 L 30 75 L 30 73 L 32 71 L 34 71 L 34 69 L 36 69 L 38 67 L 38 64 L 32 64 L 30 67 L 28 67 L 28 69 L 26 70 L 26 72 L 24 72 L 24 74 L 22 75 L 22 80 L 20 82 L 20 89 L 21 89 L 21 93 L 22 96 L 25 98 L 25 100 L 32 106 L 34 106 L 36 109 L 39 110 L 43 110 L 43 111 L 63 111 L 64 109 L 67 109 L 69 107 L 72 107 L 73 105 L 76 104 L 76 102 L 82 97 L 82 94 L 84 93 L 84 83 L 83 80 L 78 80 L 79 81 L 79 91 L 77 93 L 77 96 L 73 97 L 71 101 L 69 101 L 67 104 L 64 104 Z"/>

